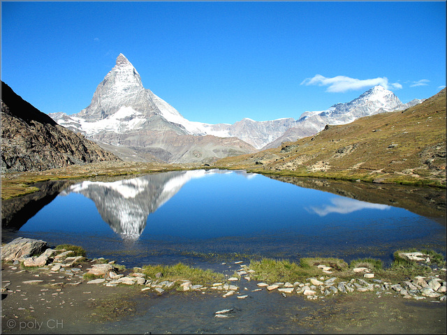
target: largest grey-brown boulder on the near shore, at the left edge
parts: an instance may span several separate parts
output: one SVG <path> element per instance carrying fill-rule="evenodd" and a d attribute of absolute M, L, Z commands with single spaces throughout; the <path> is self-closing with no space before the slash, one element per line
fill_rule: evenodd
<path fill-rule="evenodd" d="M 25 239 L 17 237 L 1 248 L 1 258 L 5 261 L 22 261 L 32 255 L 42 253 L 47 247 L 47 242 L 41 239 Z"/>

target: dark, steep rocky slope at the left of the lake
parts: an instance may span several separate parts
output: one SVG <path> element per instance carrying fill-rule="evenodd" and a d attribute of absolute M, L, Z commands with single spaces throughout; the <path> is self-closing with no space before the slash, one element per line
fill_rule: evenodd
<path fill-rule="evenodd" d="M 1 172 L 117 160 L 84 136 L 59 126 L 1 82 Z"/>

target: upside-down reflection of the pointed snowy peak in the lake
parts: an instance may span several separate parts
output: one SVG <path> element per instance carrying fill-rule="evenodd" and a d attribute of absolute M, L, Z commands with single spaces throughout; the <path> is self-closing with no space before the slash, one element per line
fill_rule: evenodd
<path fill-rule="evenodd" d="M 94 201 L 103 221 L 123 239 L 138 239 L 147 216 L 170 200 L 184 184 L 214 170 L 173 171 L 112 182 L 82 181 L 61 195 L 80 193 Z"/>

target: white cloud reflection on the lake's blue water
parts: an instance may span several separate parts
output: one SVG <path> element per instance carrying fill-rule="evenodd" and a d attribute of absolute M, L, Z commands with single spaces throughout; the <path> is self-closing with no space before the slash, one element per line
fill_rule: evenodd
<path fill-rule="evenodd" d="M 326 216 L 330 213 L 349 214 L 353 211 L 360 211 L 360 209 L 390 209 L 386 204 L 373 204 L 371 202 L 364 202 L 349 198 L 332 198 L 332 204 L 326 204 L 322 207 L 310 207 L 309 212 L 314 212 L 319 216 Z"/>

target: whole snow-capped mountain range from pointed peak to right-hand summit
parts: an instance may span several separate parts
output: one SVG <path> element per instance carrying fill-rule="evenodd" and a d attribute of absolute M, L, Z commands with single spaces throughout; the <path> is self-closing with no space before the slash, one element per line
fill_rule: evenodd
<path fill-rule="evenodd" d="M 246 118 L 235 124 L 205 124 L 185 119 L 173 106 L 145 89 L 138 71 L 119 54 L 115 67 L 98 84 L 89 106 L 77 114 L 59 112 L 50 117 L 125 161 L 211 163 L 314 135 L 326 124 L 346 124 L 367 115 L 405 110 L 422 101 L 404 104 L 392 91 L 376 86 L 349 103 L 305 112 L 297 120 Z"/>

